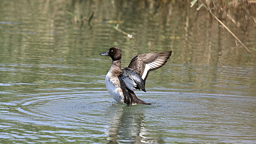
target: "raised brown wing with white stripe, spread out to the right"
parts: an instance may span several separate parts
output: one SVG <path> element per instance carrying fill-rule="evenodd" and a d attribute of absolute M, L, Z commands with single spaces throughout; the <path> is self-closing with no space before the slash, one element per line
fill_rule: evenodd
<path fill-rule="evenodd" d="M 148 73 L 162 67 L 171 55 L 172 51 L 137 55 L 131 60 L 128 68 L 140 75 L 145 86 Z"/>

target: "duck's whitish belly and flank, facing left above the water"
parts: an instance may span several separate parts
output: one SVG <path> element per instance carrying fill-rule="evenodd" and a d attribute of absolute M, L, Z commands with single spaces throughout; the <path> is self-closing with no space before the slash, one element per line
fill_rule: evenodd
<path fill-rule="evenodd" d="M 117 80 L 117 81 L 114 81 L 114 80 Z M 124 102 L 124 95 L 120 87 L 120 82 L 117 77 L 116 79 L 111 78 L 111 72 L 108 72 L 108 74 L 106 75 L 105 84 L 109 94 L 113 97 L 115 101 Z"/>

